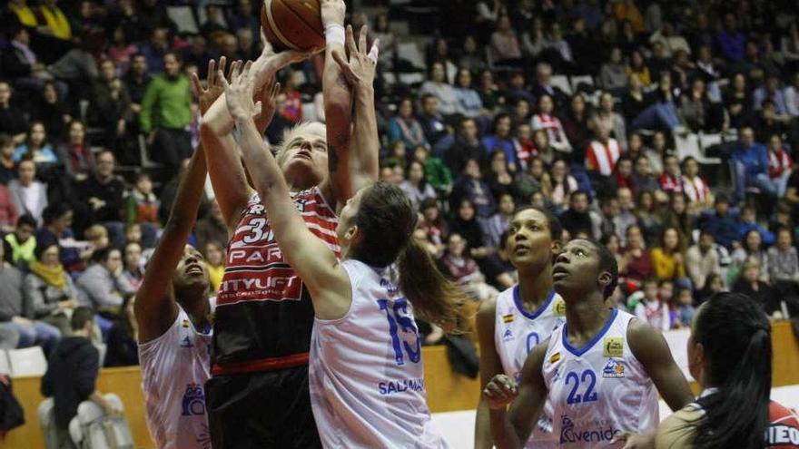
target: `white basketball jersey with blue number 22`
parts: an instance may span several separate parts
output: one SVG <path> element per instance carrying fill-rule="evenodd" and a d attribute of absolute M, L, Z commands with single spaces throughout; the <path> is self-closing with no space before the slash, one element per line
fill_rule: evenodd
<path fill-rule="evenodd" d="M 543 375 L 562 447 L 618 447 L 621 432 L 644 434 L 659 423 L 657 390 L 627 341 L 635 317 L 614 308 L 597 337 L 572 347 L 564 324 L 549 339 Z"/>

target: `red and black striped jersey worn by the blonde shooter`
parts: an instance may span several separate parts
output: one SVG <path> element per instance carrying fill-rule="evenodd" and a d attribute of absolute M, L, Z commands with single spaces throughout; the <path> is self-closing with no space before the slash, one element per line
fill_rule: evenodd
<path fill-rule="evenodd" d="M 338 219 L 314 187 L 291 194 L 311 232 L 340 256 Z M 283 260 L 266 209 L 252 196 L 228 243 L 213 324 L 214 375 L 266 371 L 307 361 L 313 306 Z"/>

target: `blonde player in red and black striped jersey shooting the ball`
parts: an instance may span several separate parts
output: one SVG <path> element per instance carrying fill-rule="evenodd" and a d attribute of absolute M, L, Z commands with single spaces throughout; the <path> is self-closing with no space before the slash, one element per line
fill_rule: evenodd
<path fill-rule="evenodd" d="M 322 23 L 343 25 L 344 9 L 341 0 L 322 0 Z M 274 74 L 307 55 L 272 54 L 264 44 L 252 72 L 255 85 L 264 86 L 256 100 L 270 109 Z M 377 181 L 379 139 L 373 64 L 352 66 L 334 60 L 334 52 L 344 54 L 343 44 L 328 40 L 327 127 L 306 123 L 290 130 L 277 159 L 306 226 L 338 253 L 335 210 L 360 186 Z M 261 115 L 256 122 L 262 131 L 271 117 Z M 222 97 L 201 127 L 212 186 L 232 236 L 214 319 L 213 377 L 206 384 L 213 446 L 320 447 L 308 386 L 311 300 L 283 260 L 269 217 L 248 186 L 234 134 Z"/>

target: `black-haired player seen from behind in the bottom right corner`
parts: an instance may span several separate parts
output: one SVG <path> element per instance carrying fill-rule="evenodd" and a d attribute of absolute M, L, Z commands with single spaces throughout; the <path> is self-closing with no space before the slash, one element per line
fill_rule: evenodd
<path fill-rule="evenodd" d="M 656 447 L 799 447 L 799 421 L 772 402 L 771 326 L 748 297 L 719 293 L 696 311 L 688 340 L 696 402 L 657 429 Z"/>

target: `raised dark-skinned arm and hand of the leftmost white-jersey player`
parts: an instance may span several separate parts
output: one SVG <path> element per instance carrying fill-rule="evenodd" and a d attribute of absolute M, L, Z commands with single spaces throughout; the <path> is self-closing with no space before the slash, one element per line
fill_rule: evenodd
<path fill-rule="evenodd" d="M 220 61 L 224 69 L 224 61 Z M 207 112 L 212 102 L 222 93 L 215 79 L 214 61 L 208 63 L 208 87 L 202 89 L 197 74 L 192 73 L 192 85 L 200 102 L 200 112 Z M 178 316 L 172 291 L 172 277 L 180 262 L 186 241 L 197 220 L 197 210 L 205 185 L 205 152 L 197 147 L 179 186 L 163 234 L 155 247 L 153 257 L 144 272 L 142 287 L 136 293 L 133 312 L 139 325 L 139 343 L 161 337 Z"/>

